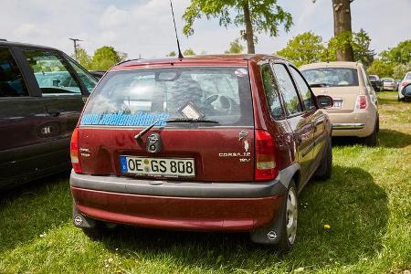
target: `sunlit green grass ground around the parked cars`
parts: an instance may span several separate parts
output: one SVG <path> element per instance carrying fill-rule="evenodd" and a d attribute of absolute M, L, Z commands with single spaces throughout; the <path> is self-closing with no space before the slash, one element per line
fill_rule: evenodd
<path fill-rule="evenodd" d="M 71 225 L 68 174 L 0 195 L 0 273 L 402 273 L 411 269 L 411 103 L 382 102 L 379 146 L 334 146 L 332 179 L 300 195 L 285 256 L 247 234 L 116 228 L 91 241 Z M 331 229 L 325 230 L 328 224 Z"/>

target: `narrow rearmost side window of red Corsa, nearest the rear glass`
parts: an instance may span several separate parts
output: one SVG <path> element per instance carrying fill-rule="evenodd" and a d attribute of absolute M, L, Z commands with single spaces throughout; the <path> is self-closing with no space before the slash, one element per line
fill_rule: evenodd
<path fill-rule="evenodd" d="M 275 120 L 281 120 L 284 118 L 284 114 L 281 109 L 281 102 L 279 100 L 279 87 L 277 87 L 274 80 L 274 75 L 271 72 L 269 65 L 263 65 L 261 67 L 261 78 L 266 93 L 266 98 L 269 103 L 269 111 L 271 116 Z"/>

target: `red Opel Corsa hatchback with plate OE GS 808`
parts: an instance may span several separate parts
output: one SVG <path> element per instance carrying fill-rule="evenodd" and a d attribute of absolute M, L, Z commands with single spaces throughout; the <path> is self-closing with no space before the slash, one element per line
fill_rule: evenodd
<path fill-rule="evenodd" d="M 274 56 L 123 62 L 72 135 L 74 225 L 249 231 L 288 250 L 297 194 L 331 176 L 331 106 Z"/>

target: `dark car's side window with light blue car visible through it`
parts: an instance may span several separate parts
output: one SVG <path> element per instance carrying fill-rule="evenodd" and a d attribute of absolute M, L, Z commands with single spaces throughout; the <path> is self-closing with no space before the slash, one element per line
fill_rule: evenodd
<path fill-rule="evenodd" d="M 56 52 L 25 50 L 26 59 L 43 95 L 80 95 L 79 82 L 68 62 Z"/>

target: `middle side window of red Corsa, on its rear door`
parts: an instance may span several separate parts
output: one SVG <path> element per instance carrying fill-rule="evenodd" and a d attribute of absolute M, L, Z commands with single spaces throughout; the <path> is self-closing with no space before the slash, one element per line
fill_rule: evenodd
<path fill-rule="evenodd" d="M 288 115 L 294 115 L 302 111 L 297 90 L 290 78 L 287 68 L 283 64 L 274 64 L 274 73 L 279 82 L 279 90 L 281 91 L 284 105 Z"/>

